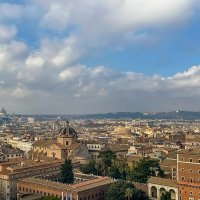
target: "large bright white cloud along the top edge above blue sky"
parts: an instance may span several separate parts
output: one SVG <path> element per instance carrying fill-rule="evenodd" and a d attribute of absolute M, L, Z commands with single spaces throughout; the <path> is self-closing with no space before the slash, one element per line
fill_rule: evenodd
<path fill-rule="evenodd" d="M 99 45 L 109 38 L 120 39 L 129 32 L 140 32 L 152 27 L 176 27 L 193 14 L 198 0 L 82 0 L 34 1 L 43 7 L 44 28 L 63 31 L 71 26 L 82 42 Z M 129 37 L 137 34 L 129 34 Z M 130 39 L 130 38 L 129 38 Z M 133 40 L 133 39 L 131 39 Z"/>

